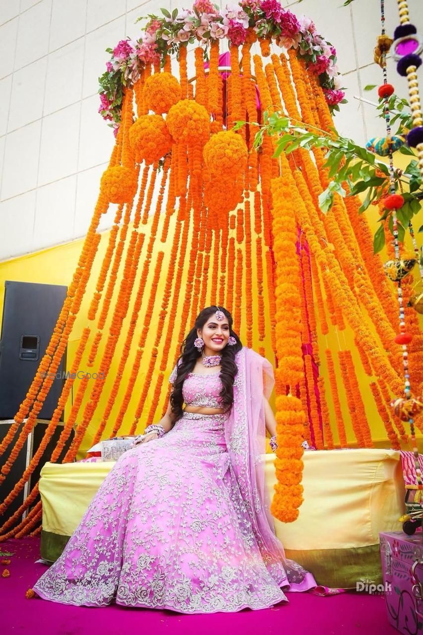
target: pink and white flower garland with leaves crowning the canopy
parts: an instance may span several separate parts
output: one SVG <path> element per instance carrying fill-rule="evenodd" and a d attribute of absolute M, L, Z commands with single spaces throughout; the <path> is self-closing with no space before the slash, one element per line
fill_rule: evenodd
<path fill-rule="evenodd" d="M 247 30 L 253 29 L 258 38 L 273 39 L 278 46 L 295 48 L 305 58 L 307 68 L 319 76 L 331 109 L 339 109 L 344 93 L 336 65 L 333 46 L 316 33 L 309 18 L 297 18 L 283 8 L 279 0 L 241 0 L 227 4 L 221 11 L 211 0 L 195 0 L 191 9 L 170 13 L 163 17 L 150 16 L 142 37 L 137 41 L 121 40 L 100 77 L 99 112 L 115 129 L 119 127 L 123 86 L 134 84 L 145 65 L 158 64 L 170 48 L 180 43 L 197 41 L 211 43 L 227 38 L 232 46 L 242 46 Z"/>

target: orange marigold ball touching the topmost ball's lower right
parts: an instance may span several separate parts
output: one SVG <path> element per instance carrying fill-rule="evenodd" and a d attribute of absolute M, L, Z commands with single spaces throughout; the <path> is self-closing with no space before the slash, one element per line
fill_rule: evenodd
<path fill-rule="evenodd" d="M 201 104 L 183 99 L 173 105 L 166 117 L 173 140 L 190 144 L 210 135 L 210 115 Z"/>

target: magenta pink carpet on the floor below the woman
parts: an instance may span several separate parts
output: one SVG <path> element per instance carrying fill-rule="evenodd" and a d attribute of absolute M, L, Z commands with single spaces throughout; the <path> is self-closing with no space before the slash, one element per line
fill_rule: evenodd
<path fill-rule="evenodd" d="M 242 633 L 286 635 L 393 635 L 398 631 L 387 622 L 382 596 L 344 593 L 319 598 L 307 593 L 288 594 L 283 603 L 260 611 L 211 615 L 180 615 L 170 611 L 128 609 L 121 606 L 86 608 L 60 605 L 42 599 L 26 599 L 45 571 L 35 564 L 39 558 L 38 538 L 8 540 L 0 551 L 14 552 L 10 577 L 0 577 L 0 632 L 2 635 L 121 635 L 163 633 L 171 635 L 234 635 Z"/>

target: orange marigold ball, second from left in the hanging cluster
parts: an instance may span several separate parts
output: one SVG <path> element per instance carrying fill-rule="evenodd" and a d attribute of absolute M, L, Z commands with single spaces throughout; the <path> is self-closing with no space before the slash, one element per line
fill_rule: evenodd
<path fill-rule="evenodd" d="M 142 115 L 129 130 L 135 161 L 149 165 L 170 152 L 172 138 L 166 121 L 160 115 Z"/>

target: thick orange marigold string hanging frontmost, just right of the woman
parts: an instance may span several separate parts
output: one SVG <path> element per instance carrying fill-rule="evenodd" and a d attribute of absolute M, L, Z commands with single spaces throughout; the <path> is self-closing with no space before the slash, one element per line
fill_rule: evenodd
<path fill-rule="evenodd" d="M 299 514 L 302 502 L 302 439 L 305 413 L 297 397 L 285 396 L 286 386 L 291 391 L 304 375 L 301 354 L 300 284 L 297 264 L 297 224 L 292 210 L 292 189 L 286 178 L 272 180 L 272 234 L 276 257 L 276 477 L 272 514 L 285 522 L 292 522 Z M 286 311 L 286 306 L 289 311 Z"/>

